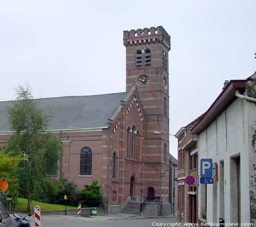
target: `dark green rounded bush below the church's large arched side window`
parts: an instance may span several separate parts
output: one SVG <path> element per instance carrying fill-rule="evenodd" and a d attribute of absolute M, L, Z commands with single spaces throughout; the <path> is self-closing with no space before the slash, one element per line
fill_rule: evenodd
<path fill-rule="evenodd" d="M 102 194 L 100 192 L 101 186 L 98 185 L 98 181 L 93 181 L 91 185 L 84 185 L 82 190 L 82 198 L 89 207 L 102 206 Z"/>

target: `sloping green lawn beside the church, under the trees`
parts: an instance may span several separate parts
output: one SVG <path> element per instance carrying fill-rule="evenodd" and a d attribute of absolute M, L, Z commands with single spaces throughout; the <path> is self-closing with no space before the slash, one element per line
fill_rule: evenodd
<path fill-rule="evenodd" d="M 18 198 L 14 211 L 26 212 L 27 204 L 28 204 L 27 198 Z M 37 200 L 32 200 L 31 211 L 33 211 L 36 205 L 40 206 L 41 211 L 65 210 L 65 205 L 46 204 Z M 77 209 L 77 207 L 67 206 L 67 209 Z"/>

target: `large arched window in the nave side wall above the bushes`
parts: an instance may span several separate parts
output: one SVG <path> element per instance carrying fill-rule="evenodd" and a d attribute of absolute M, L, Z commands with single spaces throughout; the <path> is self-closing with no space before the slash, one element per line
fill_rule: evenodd
<path fill-rule="evenodd" d="M 92 150 L 85 146 L 80 153 L 80 175 L 92 175 Z"/>

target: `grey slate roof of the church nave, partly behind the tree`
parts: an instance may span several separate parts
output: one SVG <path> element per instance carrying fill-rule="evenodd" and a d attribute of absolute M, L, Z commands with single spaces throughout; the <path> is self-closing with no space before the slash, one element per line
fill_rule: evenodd
<path fill-rule="evenodd" d="M 71 130 L 108 127 L 108 118 L 113 116 L 126 95 L 126 92 L 121 92 L 34 100 L 45 113 L 53 112 L 49 130 Z M 10 131 L 6 106 L 13 102 L 0 102 L 0 132 Z"/>

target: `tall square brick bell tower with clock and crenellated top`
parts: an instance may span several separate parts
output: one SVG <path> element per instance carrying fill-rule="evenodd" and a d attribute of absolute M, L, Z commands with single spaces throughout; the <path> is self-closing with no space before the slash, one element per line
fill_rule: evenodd
<path fill-rule="evenodd" d="M 169 200 L 170 36 L 162 26 L 123 32 L 126 91 L 136 85 L 145 112 L 143 197 Z M 156 135 L 153 132 L 160 132 Z M 154 189 L 154 191 L 153 191 Z"/>

